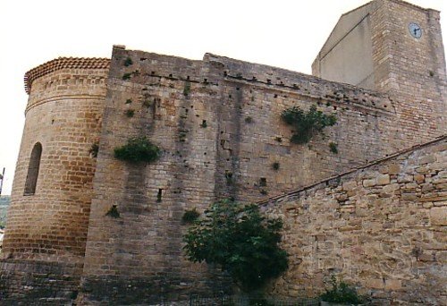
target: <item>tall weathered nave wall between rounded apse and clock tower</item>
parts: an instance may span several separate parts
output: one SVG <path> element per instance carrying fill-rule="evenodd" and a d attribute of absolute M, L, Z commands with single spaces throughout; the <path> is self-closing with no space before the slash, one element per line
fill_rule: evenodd
<path fill-rule="evenodd" d="M 129 302 L 125 296 L 135 294 L 114 293 L 125 284 L 135 284 L 131 290 L 147 302 L 160 292 L 227 290 L 213 269 L 184 258 L 185 209 L 202 212 L 229 197 L 262 200 L 396 149 L 387 96 L 297 72 L 114 47 L 107 82 L 82 301 Z M 338 123 L 307 145 L 291 144 L 281 113 L 312 105 Z M 142 135 L 163 149 L 160 160 L 132 165 L 114 158 L 114 148 Z M 113 206 L 119 218 L 106 216 Z M 152 289 L 141 291 L 141 284 Z"/>

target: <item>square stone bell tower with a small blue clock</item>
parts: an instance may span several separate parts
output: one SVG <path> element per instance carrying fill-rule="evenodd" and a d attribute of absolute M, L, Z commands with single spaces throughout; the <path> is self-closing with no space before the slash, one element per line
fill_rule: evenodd
<path fill-rule="evenodd" d="M 388 93 L 400 148 L 447 132 L 440 12 L 374 0 L 344 13 L 312 64 L 314 75 Z"/>

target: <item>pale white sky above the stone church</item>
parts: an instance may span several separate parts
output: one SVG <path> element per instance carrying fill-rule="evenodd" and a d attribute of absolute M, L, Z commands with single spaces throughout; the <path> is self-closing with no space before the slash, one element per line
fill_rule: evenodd
<path fill-rule="evenodd" d="M 201 59 L 207 52 L 296 72 L 310 65 L 342 13 L 368 0 L 2 0 L 0 172 L 10 194 L 28 96 L 23 75 L 59 56 L 110 57 L 113 45 Z M 409 0 L 441 14 L 447 0 Z"/>

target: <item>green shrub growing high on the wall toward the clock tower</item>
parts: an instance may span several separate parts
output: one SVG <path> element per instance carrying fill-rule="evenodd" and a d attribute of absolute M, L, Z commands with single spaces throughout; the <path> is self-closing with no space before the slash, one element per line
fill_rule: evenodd
<path fill-rule="evenodd" d="M 332 126 L 337 122 L 334 115 L 325 115 L 316 110 L 316 106 L 310 106 L 308 112 L 304 112 L 299 106 L 285 109 L 281 115 L 283 121 L 294 128 L 291 142 L 307 143 L 317 132 L 323 132 L 326 126 Z"/>

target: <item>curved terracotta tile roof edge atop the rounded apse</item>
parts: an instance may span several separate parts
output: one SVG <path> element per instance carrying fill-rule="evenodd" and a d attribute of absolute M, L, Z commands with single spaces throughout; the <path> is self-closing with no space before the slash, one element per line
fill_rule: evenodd
<path fill-rule="evenodd" d="M 109 58 L 100 57 L 58 57 L 54 60 L 38 65 L 25 73 L 25 91 L 30 94 L 32 82 L 39 77 L 64 68 L 72 69 L 108 69 Z"/>

